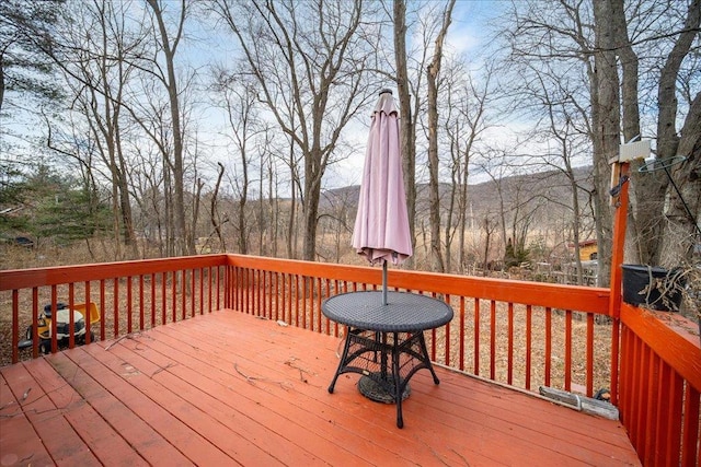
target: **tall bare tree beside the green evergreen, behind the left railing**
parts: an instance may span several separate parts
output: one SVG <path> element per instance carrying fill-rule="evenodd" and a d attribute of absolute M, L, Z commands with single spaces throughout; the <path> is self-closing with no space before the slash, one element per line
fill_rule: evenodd
<path fill-rule="evenodd" d="M 55 40 L 37 44 L 43 52 L 62 71 L 65 92 L 70 94 L 70 112 L 82 115 L 87 131 L 95 142 L 96 152 L 106 167 L 112 184 L 114 213 L 114 236 L 116 257 L 122 258 L 120 243 L 129 248 L 129 255 L 138 255 L 136 233 L 133 223 L 127 161 L 123 151 L 124 125 L 122 110 L 123 93 L 131 68 L 125 57 L 139 48 L 142 35 L 129 31 L 126 10 L 128 3 L 113 4 L 101 0 L 77 3 L 62 11 L 71 21 L 61 23 L 60 34 Z M 60 40 L 58 40 L 60 38 Z M 47 44 L 50 44 L 48 46 Z M 66 119 L 65 119 L 66 120 Z M 76 119 L 71 119 L 76 124 Z M 61 139 L 58 126 L 46 119 L 47 144 L 64 155 L 80 159 L 80 145 L 84 142 L 69 142 L 68 149 Z M 59 145 L 62 149 L 59 149 Z M 89 172 L 99 168 L 96 161 L 80 161 Z"/>

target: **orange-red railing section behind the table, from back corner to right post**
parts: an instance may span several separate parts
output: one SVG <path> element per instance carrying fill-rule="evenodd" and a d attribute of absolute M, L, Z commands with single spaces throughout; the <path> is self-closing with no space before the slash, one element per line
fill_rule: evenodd
<path fill-rule="evenodd" d="M 381 287 L 379 268 L 231 255 L 232 306 L 244 313 L 340 336 L 321 313 L 324 297 Z M 610 388 L 608 289 L 404 270 L 392 290 L 439 296 L 455 310 L 426 336 L 432 360 L 527 390 Z M 597 317 L 598 316 L 598 317 Z M 602 324 L 598 324 L 602 323 Z"/>

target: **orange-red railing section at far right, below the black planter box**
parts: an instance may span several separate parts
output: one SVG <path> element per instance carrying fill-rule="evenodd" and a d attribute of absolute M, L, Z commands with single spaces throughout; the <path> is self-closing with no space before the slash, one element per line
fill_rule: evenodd
<path fill-rule="evenodd" d="M 693 324 L 627 304 L 621 323 L 619 411 L 631 443 L 643 465 L 698 466 L 701 348 Z"/>

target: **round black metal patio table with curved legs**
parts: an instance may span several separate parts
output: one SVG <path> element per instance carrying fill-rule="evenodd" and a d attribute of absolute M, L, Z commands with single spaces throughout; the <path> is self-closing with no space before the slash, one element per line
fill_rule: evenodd
<path fill-rule="evenodd" d="M 372 400 L 397 404 L 397 427 L 402 428 L 402 400 L 409 396 L 414 373 L 428 369 L 434 383 L 440 383 L 424 331 L 447 324 L 453 314 L 447 303 L 416 293 L 388 292 L 387 304 L 382 302 L 381 291 L 342 293 L 323 302 L 323 314 L 347 327 L 329 393 L 341 374 L 359 373 L 364 375 L 358 383 L 360 393 Z"/>

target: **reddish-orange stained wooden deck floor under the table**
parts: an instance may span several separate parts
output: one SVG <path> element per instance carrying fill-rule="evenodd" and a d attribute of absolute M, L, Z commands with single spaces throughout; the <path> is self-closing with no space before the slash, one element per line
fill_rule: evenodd
<path fill-rule="evenodd" d="M 0 369 L 0 465 L 640 465 L 620 423 L 444 369 L 403 404 L 338 339 L 217 312 Z"/>

